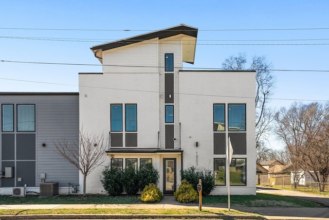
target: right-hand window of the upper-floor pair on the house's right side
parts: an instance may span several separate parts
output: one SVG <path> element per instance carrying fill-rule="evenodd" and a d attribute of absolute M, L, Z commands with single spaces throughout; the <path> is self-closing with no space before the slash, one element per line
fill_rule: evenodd
<path fill-rule="evenodd" d="M 228 104 L 228 130 L 246 131 L 245 104 Z"/>

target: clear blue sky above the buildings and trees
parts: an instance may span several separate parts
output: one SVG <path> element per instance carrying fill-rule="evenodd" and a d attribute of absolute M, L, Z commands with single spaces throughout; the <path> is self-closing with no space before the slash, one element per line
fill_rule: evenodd
<path fill-rule="evenodd" d="M 194 65 L 185 68 L 221 68 L 239 53 L 247 63 L 265 56 L 276 79 L 271 107 L 323 103 L 328 9 L 327 0 L 0 0 L 0 92 L 77 92 L 79 72 L 102 71 L 90 47 L 186 24 L 198 36 Z M 268 146 L 282 148 L 275 136 Z"/>

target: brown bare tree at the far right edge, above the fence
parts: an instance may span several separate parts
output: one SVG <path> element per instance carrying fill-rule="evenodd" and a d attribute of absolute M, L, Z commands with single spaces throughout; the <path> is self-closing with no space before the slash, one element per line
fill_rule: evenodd
<path fill-rule="evenodd" d="M 329 105 L 294 103 L 276 114 L 277 135 L 286 144 L 291 163 L 308 172 L 314 181 L 329 176 Z M 319 184 L 320 191 L 324 184 Z"/>

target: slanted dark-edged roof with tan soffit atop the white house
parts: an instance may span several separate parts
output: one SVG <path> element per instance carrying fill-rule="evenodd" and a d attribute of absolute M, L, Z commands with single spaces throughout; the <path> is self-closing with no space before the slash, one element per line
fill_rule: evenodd
<path fill-rule="evenodd" d="M 195 57 L 195 46 L 196 46 L 196 36 L 197 36 L 197 28 L 187 26 L 184 24 L 180 24 L 178 26 L 157 30 L 145 34 L 140 34 L 137 36 L 133 36 L 131 38 L 126 38 L 118 41 L 113 41 L 105 44 L 96 45 L 92 48 L 90 48 L 93 53 L 95 54 L 95 57 L 103 63 L 103 51 L 105 50 L 111 50 L 114 48 L 139 43 L 142 41 L 147 41 L 151 39 L 164 39 L 169 38 L 171 36 L 184 34 L 186 36 L 191 37 L 191 41 L 184 41 L 183 51 L 186 51 L 185 54 L 183 54 L 183 61 L 187 63 L 194 63 L 194 57 Z"/>

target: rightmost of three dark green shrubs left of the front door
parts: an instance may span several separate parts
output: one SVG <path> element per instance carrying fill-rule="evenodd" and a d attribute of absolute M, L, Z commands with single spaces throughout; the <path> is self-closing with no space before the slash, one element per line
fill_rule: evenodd
<path fill-rule="evenodd" d="M 152 163 L 140 164 L 138 171 L 138 187 L 143 190 L 149 184 L 157 185 L 159 172 L 153 167 Z"/>

